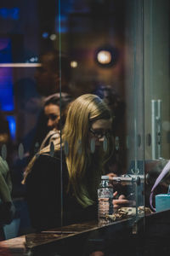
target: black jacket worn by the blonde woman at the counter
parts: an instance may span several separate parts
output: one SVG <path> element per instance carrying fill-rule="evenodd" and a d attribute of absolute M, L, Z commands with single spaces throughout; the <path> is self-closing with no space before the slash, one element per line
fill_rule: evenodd
<path fill-rule="evenodd" d="M 67 187 L 65 157 L 61 165 L 59 153 L 54 157 L 39 155 L 26 178 L 26 200 L 34 228 L 44 230 L 97 218 L 97 204 L 83 208 L 71 190 L 67 193 Z"/>

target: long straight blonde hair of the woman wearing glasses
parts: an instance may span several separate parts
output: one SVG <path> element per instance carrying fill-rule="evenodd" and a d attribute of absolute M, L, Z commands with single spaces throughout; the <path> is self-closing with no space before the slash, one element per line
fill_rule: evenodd
<path fill-rule="evenodd" d="M 107 158 L 106 152 L 98 161 L 98 166 L 93 170 L 92 154 L 89 147 L 89 128 L 93 121 L 97 119 L 111 119 L 111 112 L 99 96 L 85 94 L 77 97 L 70 104 L 65 120 L 65 126 L 62 131 L 62 148 L 65 143 L 68 144 L 68 153 L 65 154 L 66 165 L 69 174 L 68 189 L 72 188 L 77 201 L 87 207 L 93 204 L 95 199 L 96 186 L 99 183 L 99 177 L 102 174 L 102 164 Z M 54 144 L 54 150 L 59 150 L 60 144 Z M 109 149 L 108 149 L 109 151 Z M 49 147 L 43 148 L 39 154 L 49 152 Z M 34 164 L 36 157 L 29 163 L 23 183 Z M 91 172 L 92 180 L 89 183 L 86 180 L 88 170 Z M 91 188 L 89 187 L 91 184 Z M 90 191 L 91 192 L 90 194 Z M 90 195 L 89 195 L 90 194 Z"/>

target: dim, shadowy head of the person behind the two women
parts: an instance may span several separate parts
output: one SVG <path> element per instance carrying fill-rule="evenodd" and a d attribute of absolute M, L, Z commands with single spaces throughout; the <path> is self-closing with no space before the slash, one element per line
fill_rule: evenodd
<path fill-rule="evenodd" d="M 71 61 L 65 53 L 48 50 L 39 57 L 41 67 L 37 67 L 35 79 L 41 96 L 50 96 L 61 91 L 71 94 Z M 61 68 L 61 69 L 60 69 Z M 62 72 L 61 72 L 62 70 Z"/>

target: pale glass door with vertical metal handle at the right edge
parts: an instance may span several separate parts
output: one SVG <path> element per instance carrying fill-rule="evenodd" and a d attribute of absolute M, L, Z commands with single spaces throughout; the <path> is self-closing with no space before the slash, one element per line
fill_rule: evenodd
<path fill-rule="evenodd" d="M 169 3 L 144 1 L 144 130 L 146 204 L 150 190 L 170 156 L 169 148 Z M 168 178 L 155 189 L 167 194 Z"/>

